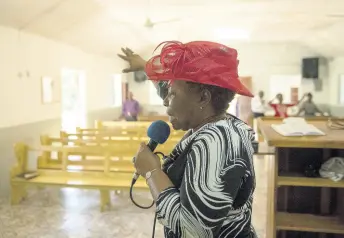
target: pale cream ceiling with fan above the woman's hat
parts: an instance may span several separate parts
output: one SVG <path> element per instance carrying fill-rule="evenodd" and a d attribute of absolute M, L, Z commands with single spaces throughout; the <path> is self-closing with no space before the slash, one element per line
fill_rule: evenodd
<path fill-rule="evenodd" d="M 179 21 L 149 28 L 147 17 Z M 0 0 L 0 25 L 109 57 L 120 46 L 142 51 L 163 40 L 293 42 L 344 55 L 343 0 Z M 219 39 L 219 28 L 244 30 L 250 38 Z"/>

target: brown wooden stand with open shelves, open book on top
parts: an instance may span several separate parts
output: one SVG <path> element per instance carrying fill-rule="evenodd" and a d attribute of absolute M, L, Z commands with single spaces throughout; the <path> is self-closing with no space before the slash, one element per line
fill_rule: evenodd
<path fill-rule="evenodd" d="M 344 130 L 330 129 L 326 119 L 307 121 L 326 136 L 284 137 L 271 128 L 281 119 L 258 119 L 268 146 L 275 147 L 268 158 L 267 238 L 344 237 L 344 180 L 304 175 L 309 164 L 344 157 Z"/>

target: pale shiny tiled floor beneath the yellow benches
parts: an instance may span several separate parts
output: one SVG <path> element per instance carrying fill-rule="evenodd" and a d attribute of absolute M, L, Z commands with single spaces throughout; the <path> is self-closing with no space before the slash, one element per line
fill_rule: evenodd
<path fill-rule="evenodd" d="M 255 158 L 257 189 L 253 224 L 259 238 L 265 238 L 266 159 Z M 136 195 L 148 204 L 150 195 Z M 114 238 L 151 237 L 153 210 L 132 205 L 127 193 L 112 194 L 112 208 L 99 212 L 97 191 L 79 189 L 31 190 L 20 205 L 11 207 L 0 200 L 0 238 Z M 156 236 L 162 236 L 157 224 Z"/>

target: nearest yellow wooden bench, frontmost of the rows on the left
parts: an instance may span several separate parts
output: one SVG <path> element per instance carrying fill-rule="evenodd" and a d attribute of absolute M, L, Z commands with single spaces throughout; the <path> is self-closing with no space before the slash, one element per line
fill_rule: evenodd
<path fill-rule="evenodd" d="M 26 196 L 27 186 L 56 186 L 56 187 L 75 187 L 81 189 L 96 189 L 100 191 L 101 203 L 100 210 L 111 205 L 110 190 L 128 190 L 132 179 L 133 165 L 129 172 L 111 171 L 110 155 L 118 154 L 121 149 L 113 147 L 42 147 L 30 148 L 26 144 L 18 143 L 14 147 L 16 155 L 16 165 L 11 169 L 11 203 L 17 204 Z M 29 153 L 30 152 L 61 152 L 62 165 L 56 166 L 54 169 L 38 169 L 38 177 L 32 179 L 21 178 L 28 171 Z M 68 154 L 84 153 L 84 154 L 103 154 L 105 159 L 99 165 L 103 168 L 98 171 L 76 171 L 68 169 Z M 84 162 L 83 162 L 84 163 Z M 130 162 L 129 162 L 130 163 Z M 129 165 L 129 163 L 127 163 Z M 118 166 L 118 165 L 116 165 Z M 148 187 L 144 179 L 139 179 L 135 185 L 135 189 L 147 190 Z"/>

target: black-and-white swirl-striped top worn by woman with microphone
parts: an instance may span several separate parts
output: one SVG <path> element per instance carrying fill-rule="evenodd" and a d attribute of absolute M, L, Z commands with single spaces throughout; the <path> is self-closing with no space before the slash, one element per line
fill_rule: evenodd
<path fill-rule="evenodd" d="M 163 170 L 175 185 L 156 202 L 165 237 L 256 237 L 253 140 L 248 125 L 229 117 L 204 125 L 165 158 Z"/>

